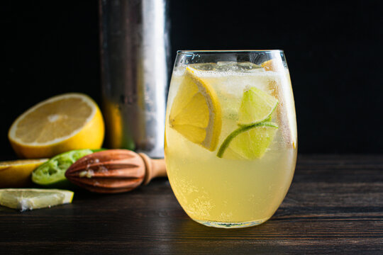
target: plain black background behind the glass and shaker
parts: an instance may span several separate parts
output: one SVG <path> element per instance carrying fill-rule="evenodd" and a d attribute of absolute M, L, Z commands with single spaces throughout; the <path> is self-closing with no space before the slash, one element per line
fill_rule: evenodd
<path fill-rule="evenodd" d="M 1 1 L 0 152 L 35 103 L 78 91 L 100 103 L 98 1 Z M 282 49 L 299 152 L 382 153 L 379 1 L 170 0 L 177 50 Z"/>

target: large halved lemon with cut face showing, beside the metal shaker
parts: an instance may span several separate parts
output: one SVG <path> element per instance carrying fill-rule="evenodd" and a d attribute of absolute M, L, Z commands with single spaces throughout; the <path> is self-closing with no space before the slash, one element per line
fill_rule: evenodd
<path fill-rule="evenodd" d="M 72 149 L 99 149 L 104 141 L 104 119 L 89 96 L 62 94 L 20 115 L 8 137 L 16 154 L 29 159 Z"/>

